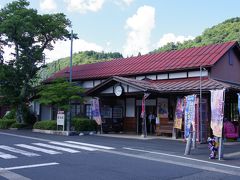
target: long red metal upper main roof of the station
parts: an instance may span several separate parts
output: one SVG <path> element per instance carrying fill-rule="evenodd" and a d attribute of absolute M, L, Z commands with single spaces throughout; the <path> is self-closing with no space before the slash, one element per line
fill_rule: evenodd
<path fill-rule="evenodd" d="M 214 65 L 237 42 L 226 42 L 203 47 L 193 47 L 143 56 L 119 58 L 106 62 L 84 64 L 73 67 L 73 80 L 101 79 L 111 76 L 130 76 L 138 74 L 161 73 L 200 66 Z M 57 77 L 67 77 L 69 67 L 55 73 L 48 81 Z"/>

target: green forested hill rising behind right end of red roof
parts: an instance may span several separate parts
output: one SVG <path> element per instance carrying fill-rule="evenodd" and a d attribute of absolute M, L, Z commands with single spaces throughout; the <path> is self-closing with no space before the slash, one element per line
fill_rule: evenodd
<path fill-rule="evenodd" d="M 193 40 L 177 44 L 168 43 L 150 53 L 198 47 L 227 41 L 240 42 L 240 17 L 228 19 L 218 25 L 208 28 L 202 33 L 202 35 L 197 36 Z"/>

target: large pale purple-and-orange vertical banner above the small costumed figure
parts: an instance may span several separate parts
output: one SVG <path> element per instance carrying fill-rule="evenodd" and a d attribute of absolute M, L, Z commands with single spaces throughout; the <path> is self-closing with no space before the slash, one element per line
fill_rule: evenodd
<path fill-rule="evenodd" d="M 211 91 L 211 128 L 213 135 L 222 137 L 224 89 Z"/>

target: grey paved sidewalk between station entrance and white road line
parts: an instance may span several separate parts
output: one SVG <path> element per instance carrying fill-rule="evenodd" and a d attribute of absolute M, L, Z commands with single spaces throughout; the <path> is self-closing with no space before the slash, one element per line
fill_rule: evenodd
<path fill-rule="evenodd" d="M 121 139 L 137 139 L 141 140 L 143 143 L 148 142 L 145 145 L 154 144 L 154 149 L 168 152 L 169 154 L 175 154 L 179 156 L 185 156 L 186 143 L 183 139 L 172 139 L 171 137 L 162 136 L 147 136 L 146 138 L 141 135 L 134 134 L 96 134 L 96 136 L 101 137 L 111 137 L 111 138 L 121 138 Z M 144 145 L 143 144 L 143 145 Z M 149 146 L 149 148 L 152 148 Z M 148 148 L 148 147 L 144 147 Z M 208 149 L 208 144 L 197 144 L 196 149 L 192 149 L 190 155 L 185 157 L 199 159 L 203 161 L 210 161 L 214 163 L 228 164 L 232 166 L 238 166 L 240 168 L 240 142 L 224 142 L 223 144 L 224 157 L 221 160 L 209 159 L 210 150 Z"/>

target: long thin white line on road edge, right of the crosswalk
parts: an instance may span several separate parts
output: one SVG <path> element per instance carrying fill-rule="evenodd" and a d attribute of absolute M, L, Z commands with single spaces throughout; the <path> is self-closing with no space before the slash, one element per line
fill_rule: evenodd
<path fill-rule="evenodd" d="M 232 165 L 228 165 L 228 164 L 221 164 L 221 163 L 209 162 L 209 161 L 205 161 L 205 160 L 194 159 L 194 158 L 189 158 L 189 157 L 183 157 L 183 156 L 178 156 L 178 155 L 173 155 L 173 154 L 160 153 L 160 152 L 154 152 L 154 151 L 147 151 L 147 150 L 142 150 L 142 149 L 127 148 L 127 147 L 123 147 L 123 149 L 131 150 L 131 151 L 151 153 L 151 154 L 159 154 L 159 155 L 163 155 L 163 156 L 169 156 L 169 157 L 187 159 L 187 160 L 191 160 L 191 161 L 198 161 L 198 162 L 203 162 L 203 163 L 208 163 L 208 164 L 214 164 L 214 165 L 219 165 L 219 166 L 224 166 L 224 167 L 230 167 L 230 168 L 240 169 L 239 166 L 232 166 Z"/>

